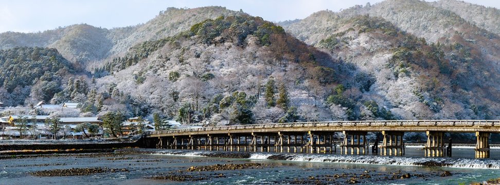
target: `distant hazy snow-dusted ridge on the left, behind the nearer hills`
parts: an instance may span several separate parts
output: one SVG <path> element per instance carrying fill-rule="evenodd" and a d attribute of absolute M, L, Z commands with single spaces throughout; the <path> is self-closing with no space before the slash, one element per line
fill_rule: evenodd
<path fill-rule="evenodd" d="M 37 33 L 0 33 L 0 49 L 17 46 L 56 48 L 66 59 L 92 68 L 104 59 L 127 51 L 133 45 L 162 39 L 188 29 L 207 18 L 244 14 L 223 7 L 168 8 L 152 20 L 135 26 L 104 29 L 87 24 L 71 25 Z"/>

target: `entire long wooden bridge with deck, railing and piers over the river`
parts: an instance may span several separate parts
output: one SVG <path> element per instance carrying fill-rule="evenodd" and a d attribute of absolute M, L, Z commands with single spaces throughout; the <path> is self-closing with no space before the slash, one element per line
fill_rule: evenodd
<path fill-rule="evenodd" d="M 335 133 L 344 138 L 335 142 Z M 381 143 L 372 145 L 372 153 L 404 155 L 405 132 L 424 132 L 426 157 L 451 156 L 451 143 L 444 133 L 475 133 L 476 158 L 489 158 L 490 133 L 500 133 L 500 120 L 391 120 L 329 121 L 214 126 L 148 133 L 148 139 L 160 149 L 189 149 L 249 152 L 300 152 L 369 154 L 368 132 L 380 132 Z M 447 146 L 448 144 L 448 146 Z M 380 152 L 379 152 L 380 151 Z"/>

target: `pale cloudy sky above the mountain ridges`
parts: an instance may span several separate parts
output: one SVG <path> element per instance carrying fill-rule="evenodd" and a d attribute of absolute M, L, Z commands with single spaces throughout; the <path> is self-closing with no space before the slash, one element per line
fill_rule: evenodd
<path fill-rule="evenodd" d="M 168 7 L 223 6 L 267 21 L 305 18 L 320 10 L 372 5 L 382 0 L 0 0 L 0 32 L 37 32 L 73 24 L 115 28 L 145 23 Z M 431 1 L 431 0 L 427 0 Z M 500 8 L 497 0 L 466 0 Z"/>

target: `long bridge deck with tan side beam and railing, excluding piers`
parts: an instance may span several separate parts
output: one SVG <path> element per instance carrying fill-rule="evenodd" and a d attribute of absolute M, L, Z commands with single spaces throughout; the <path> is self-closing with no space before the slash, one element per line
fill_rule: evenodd
<path fill-rule="evenodd" d="M 155 131 L 148 137 L 277 132 L 460 132 L 500 133 L 500 120 L 392 120 L 271 123 Z"/>

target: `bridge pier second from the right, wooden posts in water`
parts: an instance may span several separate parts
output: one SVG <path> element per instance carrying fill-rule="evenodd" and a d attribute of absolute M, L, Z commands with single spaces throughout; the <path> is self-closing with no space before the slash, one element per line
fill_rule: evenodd
<path fill-rule="evenodd" d="M 444 132 L 427 131 L 427 143 L 424 151 L 425 157 L 443 157 L 444 156 Z"/>

